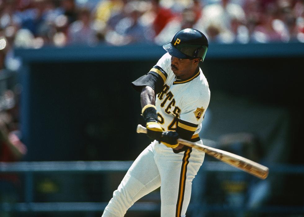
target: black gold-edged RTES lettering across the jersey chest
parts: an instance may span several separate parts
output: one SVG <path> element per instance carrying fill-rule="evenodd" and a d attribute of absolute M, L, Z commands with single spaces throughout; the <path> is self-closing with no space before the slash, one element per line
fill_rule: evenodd
<path fill-rule="evenodd" d="M 173 94 L 171 93 L 171 91 L 169 91 L 169 86 L 167 84 L 163 85 L 163 90 L 157 95 L 157 97 L 160 100 L 163 100 L 163 102 L 160 104 L 160 106 L 163 108 L 165 106 L 165 104 L 169 101 L 169 104 L 165 107 L 165 112 L 167 114 L 173 114 L 175 117 L 179 117 L 180 113 L 181 113 L 181 109 L 178 106 L 175 106 L 175 99 L 173 98 Z M 166 96 L 164 98 L 164 95 Z M 174 106 L 174 108 L 173 108 Z M 173 110 L 171 111 L 171 109 L 173 108 Z"/>

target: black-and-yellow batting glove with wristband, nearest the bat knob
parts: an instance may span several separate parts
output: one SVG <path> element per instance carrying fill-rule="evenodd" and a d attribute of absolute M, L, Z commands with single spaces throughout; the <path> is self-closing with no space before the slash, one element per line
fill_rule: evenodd
<path fill-rule="evenodd" d="M 154 105 L 146 105 L 143 107 L 142 116 L 146 122 L 147 136 L 151 139 L 160 140 L 163 128 L 157 121 L 156 107 Z"/>

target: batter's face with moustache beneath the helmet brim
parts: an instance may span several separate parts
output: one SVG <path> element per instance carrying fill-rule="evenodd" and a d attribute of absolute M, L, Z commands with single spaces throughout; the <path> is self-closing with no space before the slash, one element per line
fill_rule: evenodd
<path fill-rule="evenodd" d="M 199 59 L 190 60 L 171 57 L 171 70 L 179 79 L 191 77 L 195 73 L 198 64 Z"/>

